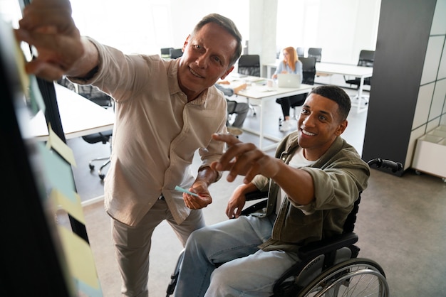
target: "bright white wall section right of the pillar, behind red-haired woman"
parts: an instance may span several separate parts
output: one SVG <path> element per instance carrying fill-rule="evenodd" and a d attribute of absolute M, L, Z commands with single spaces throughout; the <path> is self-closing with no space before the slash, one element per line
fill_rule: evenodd
<path fill-rule="evenodd" d="M 380 0 L 279 0 L 277 47 L 322 48 L 322 62 L 358 63 L 375 50 Z"/>

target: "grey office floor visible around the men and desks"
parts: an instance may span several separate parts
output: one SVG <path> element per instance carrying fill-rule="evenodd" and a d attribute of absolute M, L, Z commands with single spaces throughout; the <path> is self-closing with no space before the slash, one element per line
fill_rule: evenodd
<path fill-rule="evenodd" d="M 353 90 L 348 90 L 353 94 Z M 283 136 L 278 129 L 279 104 L 266 106 L 266 131 Z M 343 134 L 361 153 L 366 112 L 352 109 Z M 245 125 L 255 128 L 258 118 L 249 115 Z M 256 144 L 258 138 L 244 133 L 242 141 Z M 103 144 L 91 145 L 71 139 L 77 167 L 76 187 L 83 200 L 86 227 L 104 296 L 120 296 L 120 276 L 110 241 L 110 218 L 103 210 L 103 185 L 97 173 L 91 173 L 88 160 L 107 155 Z M 273 150 L 268 153 L 274 153 Z M 379 156 L 377 156 L 379 157 Z M 196 165 L 197 162 L 194 162 Z M 228 183 L 225 176 L 211 186 L 213 203 L 204 209 L 207 224 L 227 220 L 227 198 L 241 183 Z M 95 202 L 97 201 L 97 202 Z M 359 257 L 377 261 L 388 277 L 391 296 L 446 296 L 446 183 L 430 175 L 407 171 L 403 177 L 373 170 L 368 189 L 363 193 L 356 232 Z M 150 296 L 165 296 L 165 288 L 182 249 L 170 227 L 162 223 L 153 236 L 150 257 Z"/>

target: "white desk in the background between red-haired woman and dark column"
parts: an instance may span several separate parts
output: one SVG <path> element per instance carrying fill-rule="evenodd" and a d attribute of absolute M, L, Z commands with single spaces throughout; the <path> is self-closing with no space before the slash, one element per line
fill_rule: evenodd
<path fill-rule="evenodd" d="M 352 104 L 352 106 L 356 105 L 356 111 L 358 113 L 367 110 L 366 106 L 361 108 L 361 98 L 363 96 L 364 79 L 365 77 L 372 77 L 373 68 L 336 63 L 316 63 L 316 75 L 318 73 L 323 75 L 346 75 L 359 77 L 361 82 L 358 86 L 358 104 Z"/>

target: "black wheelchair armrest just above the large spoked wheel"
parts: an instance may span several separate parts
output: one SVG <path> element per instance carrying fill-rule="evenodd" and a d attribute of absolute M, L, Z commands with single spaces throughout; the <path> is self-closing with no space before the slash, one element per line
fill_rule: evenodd
<path fill-rule="evenodd" d="M 341 247 L 349 247 L 356 242 L 358 242 L 358 235 L 354 232 L 348 232 L 317 242 L 310 242 L 299 249 L 298 255 L 300 259 L 313 258 L 320 254 L 336 251 Z"/>

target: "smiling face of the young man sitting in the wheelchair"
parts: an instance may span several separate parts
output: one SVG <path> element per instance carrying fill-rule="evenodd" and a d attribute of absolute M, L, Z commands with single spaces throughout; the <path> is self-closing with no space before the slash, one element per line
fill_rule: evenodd
<path fill-rule="evenodd" d="M 304 148 L 306 159 L 320 158 L 346 127 L 347 120 L 338 114 L 336 102 L 321 95 L 309 95 L 298 120 L 299 146 Z"/>

